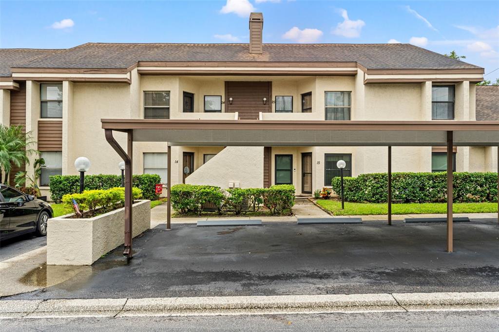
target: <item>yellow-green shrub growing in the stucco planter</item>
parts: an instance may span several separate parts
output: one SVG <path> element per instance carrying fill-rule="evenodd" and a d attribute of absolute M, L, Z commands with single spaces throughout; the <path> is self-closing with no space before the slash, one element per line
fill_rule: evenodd
<path fill-rule="evenodd" d="M 133 187 L 132 198 L 135 200 L 141 197 L 142 190 Z M 73 199 L 78 203 L 81 212 L 88 210 L 90 216 L 94 216 L 97 210 L 105 213 L 112 209 L 123 207 L 125 203 L 125 188 L 116 187 L 106 190 L 85 190 L 82 193 L 66 194 L 62 196 L 62 202 L 68 206 L 73 205 Z"/>

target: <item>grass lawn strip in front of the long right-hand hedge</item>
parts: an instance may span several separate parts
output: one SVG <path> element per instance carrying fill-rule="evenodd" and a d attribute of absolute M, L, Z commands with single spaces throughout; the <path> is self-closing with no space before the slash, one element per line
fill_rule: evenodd
<path fill-rule="evenodd" d="M 334 215 L 367 215 L 388 214 L 387 203 L 351 203 L 345 202 L 341 210 L 341 202 L 332 199 L 317 199 L 317 204 L 331 211 Z M 498 203 L 454 203 L 454 213 L 494 213 L 498 211 Z M 392 204 L 392 214 L 433 214 L 447 213 L 446 203 L 397 203 Z"/>

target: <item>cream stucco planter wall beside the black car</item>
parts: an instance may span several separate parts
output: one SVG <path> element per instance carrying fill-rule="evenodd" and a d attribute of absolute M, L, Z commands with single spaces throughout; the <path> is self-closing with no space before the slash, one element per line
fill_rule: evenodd
<path fill-rule="evenodd" d="M 125 208 L 88 219 L 68 219 L 67 216 L 48 220 L 47 265 L 91 265 L 124 243 Z M 150 201 L 133 204 L 133 236 L 146 231 L 150 225 Z"/>

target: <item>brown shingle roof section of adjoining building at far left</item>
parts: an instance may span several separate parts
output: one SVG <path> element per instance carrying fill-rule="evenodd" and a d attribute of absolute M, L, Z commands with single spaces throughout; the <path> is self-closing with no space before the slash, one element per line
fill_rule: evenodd
<path fill-rule="evenodd" d="M 25 65 L 39 57 L 60 52 L 60 49 L 0 48 L 0 76 L 11 76 L 10 68 Z"/>

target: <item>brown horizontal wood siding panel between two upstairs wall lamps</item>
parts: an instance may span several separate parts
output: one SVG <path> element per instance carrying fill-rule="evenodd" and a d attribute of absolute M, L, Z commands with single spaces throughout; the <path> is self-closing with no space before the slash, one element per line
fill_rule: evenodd
<path fill-rule="evenodd" d="M 271 111 L 272 82 L 227 81 L 225 84 L 226 112 L 239 112 L 242 120 L 258 120 L 259 112 Z"/>

